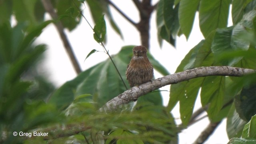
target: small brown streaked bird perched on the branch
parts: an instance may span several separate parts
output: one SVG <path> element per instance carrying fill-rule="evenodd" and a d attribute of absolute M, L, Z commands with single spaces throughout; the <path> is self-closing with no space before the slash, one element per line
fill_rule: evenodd
<path fill-rule="evenodd" d="M 135 46 L 133 56 L 127 66 L 126 78 L 130 87 L 144 84 L 153 79 L 153 66 L 147 57 L 147 49 L 145 46 Z"/>

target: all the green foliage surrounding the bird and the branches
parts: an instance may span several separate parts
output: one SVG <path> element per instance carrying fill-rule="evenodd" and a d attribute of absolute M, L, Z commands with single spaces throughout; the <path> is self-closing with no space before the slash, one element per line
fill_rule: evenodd
<path fill-rule="evenodd" d="M 77 8 L 82 9 L 84 0 L 51 2 L 65 28 L 73 30 L 78 26 L 81 15 Z M 104 42 L 106 34 L 103 14 L 122 37 L 106 0 L 85 2 L 96 23 L 94 39 L 97 42 Z M 227 27 L 230 6 L 233 26 Z M 159 0 L 156 9 L 158 41 L 162 44 L 162 40 L 166 40 L 175 45 L 176 36 L 181 34 L 188 39 L 198 12 L 205 39 L 188 52 L 176 72 L 200 66 L 256 69 L 255 8 L 256 0 Z M 99 112 L 98 108 L 126 90 L 111 60 L 81 72 L 53 92 L 53 86 L 42 76 L 33 75 L 36 62 L 45 50 L 45 45 L 33 42 L 52 22 L 44 20 L 45 10 L 40 0 L 2 0 L 0 9 L 4 11 L 0 14 L 0 138 L 5 136 L 0 143 L 42 143 L 42 138 L 22 139 L 12 136 L 12 132 L 44 128 L 50 131 L 60 125 L 78 125 L 79 128 L 71 134 L 67 130 L 68 134 L 63 137 L 53 132 L 48 137 L 49 142 L 178 143 L 178 130 L 171 111 L 179 102 L 182 124 L 188 126 L 199 92 L 202 107 L 211 122 L 227 118 L 230 143 L 255 143 L 255 74 L 240 78 L 209 76 L 173 84 L 167 108 L 162 106 L 160 92 L 155 91 L 140 97 L 137 105 L 130 103 L 110 113 Z M 16 26 L 10 25 L 11 16 L 16 18 Z M 124 80 L 132 47 L 124 46 L 112 56 Z M 92 50 L 88 56 L 94 52 L 97 51 Z M 150 53 L 148 58 L 155 70 L 162 75 L 169 74 Z M 125 83 L 128 85 L 127 81 Z"/>

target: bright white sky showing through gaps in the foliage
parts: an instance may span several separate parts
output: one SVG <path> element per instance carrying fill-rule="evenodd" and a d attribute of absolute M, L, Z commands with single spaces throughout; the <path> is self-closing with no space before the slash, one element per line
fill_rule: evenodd
<path fill-rule="evenodd" d="M 152 0 L 153 4 L 158 0 Z M 135 9 L 133 2 L 123 1 L 123 0 L 112 0 L 128 17 L 132 18 L 135 22 L 139 21 L 138 11 Z M 133 10 L 131 8 L 134 8 Z M 129 24 L 116 10 L 110 7 L 112 16 L 119 26 L 124 39 L 122 40 L 116 32 L 114 32 L 107 21 L 107 43 L 105 44 L 106 49 L 109 50 L 110 55 L 116 54 L 120 51 L 122 46 L 126 45 L 140 45 L 140 35 L 138 31 Z M 90 10 L 86 5 L 83 13 L 90 24 L 94 25 L 91 18 Z M 50 19 L 49 15 L 46 15 L 46 18 Z M 189 52 L 191 48 L 196 46 L 204 37 L 202 36 L 199 23 L 198 23 L 198 14 L 194 20 L 194 26 L 192 33 L 188 40 L 185 36 L 182 35 L 176 40 L 176 48 L 172 47 L 167 42 L 163 42 L 162 48 L 160 48 L 157 40 L 157 28 L 156 28 L 156 13 L 152 14 L 152 19 L 150 22 L 150 53 L 158 60 L 171 74 L 173 74 L 180 64 L 184 56 Z M 69 32 L 65 31 L 70 40 L 70 43 L 73 47 L 76 58 L 82 68 L 86 70 L 99 62 L 102 62 L 108 58 L 104 52 L 97 52 L 92 54 L 89 58 L 84 61 L 87 54 L 96 49 L 98 51 L 103 51 L 102 46 L 100 46 L 93 38 L 93 31 L 90 26 L 83 19 L 79 26 Z M 70 59 L 66 54 L 64 46 L 60 40 L 58 32 L 53 24 L 49 25 L 44 29 L 37 43 L 47 44 L 48 48 L 45 54 L 45 60 L 43 66 L 41 67 L 41 72 L 47 74 L 48 79 L 52 81 L 57 87 L 61 86 L 68 80 L 72 80 L 76 77 L 76 73 L 72 67 Z M 154 71 L 155 78 L 160 78 L 162 75 Z M 164 86 L 161 90 L 170 90 L 170 85 Z M 162 92 L 164 105 L 168 104 L 169 92 Z M 197 110 L 201 107 L 200 98 L 197 98 L 196 105 L 194 110 Z M 172 114 L 176 119 L 178 124 L 180 121 L 179 106 L 172 110 Z M 202 116 L 206 113 L 202 114 Z M 209 124 L 209 120 L 204 118 L 196 124 L 188 127 L 179 134 L 179 144 L 191 144 L 196 140 L 199 134 L 206 128 Z M 216 131 L 210 138 L 206 141 L 205 144 L 225 144 L 228 142 L 228 137 L 226 134 L 226 119 L 218 126 Z"/>

